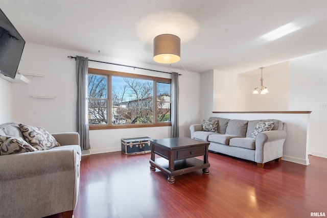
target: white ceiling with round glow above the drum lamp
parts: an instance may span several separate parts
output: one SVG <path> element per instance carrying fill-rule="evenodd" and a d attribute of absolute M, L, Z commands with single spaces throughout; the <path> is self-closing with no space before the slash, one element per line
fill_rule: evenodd
<path fill-rule="evenodd" d="M 0 0 L 27 42 L 159 66 L 153 38 L 181 38 L 171 67 L 246 72 L 327 50 L 326 0 Z M 264 34 L 294 23 L 273 41 Z M 100 51 L 100 53 L 99 53 Z M 79 55 L 79 54 L 77 54 Z"/>

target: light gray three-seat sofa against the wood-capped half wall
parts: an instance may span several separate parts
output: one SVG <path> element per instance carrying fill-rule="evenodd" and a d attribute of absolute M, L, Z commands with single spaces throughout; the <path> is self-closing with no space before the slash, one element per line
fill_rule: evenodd
<path fill-rule="evenodd" d="M 213 120 L 218 120 L 216 131 L 203 131 L 203 124 L 190 126 L 191 138 L 209 141 L 209 151 L 254 161 L 258 167 L 264 167 L 264 163 L 271 160 L 281 161 L 287 136 L 286 124 L 281 120 L 208 119 L 211 123 Z M 272 129 L 255 132 L 260 121 L 273 122 Z M 252 136 L 252 132 L 256 136 Z"/>

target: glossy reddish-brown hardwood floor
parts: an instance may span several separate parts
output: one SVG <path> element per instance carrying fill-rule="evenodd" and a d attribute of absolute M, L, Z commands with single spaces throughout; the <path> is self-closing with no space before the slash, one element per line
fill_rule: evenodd
<path fill-rule="evenodd" d="M 310 165 L 251 161 L 209 153 L 210 174 L 150 171 L 150 153 L 83 156 L 75 218 L 310 217 L 327 214 L 327 159 Z M 49 217 L 61 217 L 60 214 Z"/>

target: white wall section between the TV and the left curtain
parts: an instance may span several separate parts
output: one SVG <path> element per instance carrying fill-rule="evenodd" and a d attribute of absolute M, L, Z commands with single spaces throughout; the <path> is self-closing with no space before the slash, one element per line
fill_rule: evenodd
<path fill-rule="evenodd" d="M 76 131 L 75 62 L 69 51 L 26 43 L 18 69 L 40 71 L 44 77 L 28 77 L 30 84 L 15 84 L 19 102 L 19 122 L 43 126 L 49 132 Z M 32 95 L 53 95 L 55 99 L 36 99 Z"/>

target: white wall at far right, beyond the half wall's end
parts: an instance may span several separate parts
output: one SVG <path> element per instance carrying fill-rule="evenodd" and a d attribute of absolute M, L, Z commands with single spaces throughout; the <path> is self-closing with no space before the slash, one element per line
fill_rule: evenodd
<path fill-rule="evenodd" d="M 289 110 L 310 114 L 309 154 L 327 158 L 327 52 L 290 61 Z"/>

